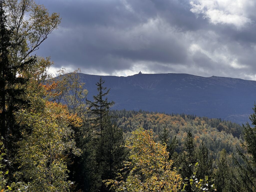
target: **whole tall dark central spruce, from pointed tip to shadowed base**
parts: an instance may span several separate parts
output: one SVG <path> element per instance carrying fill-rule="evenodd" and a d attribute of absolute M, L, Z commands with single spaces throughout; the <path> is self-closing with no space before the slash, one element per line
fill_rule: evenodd
<path fill-rule="evenodd" d="M 88 122 L 90 123 L 88 127 L 92 128 L 90 129 L 92 132 L 95 130 L 99 134 L 92 136 L 91 145 L 86 149 L 88 153 L 83 155 L 85 162 L 93 162 L 93 167 L 84 165 L 83 172 L 87 173 L 85 177 L 87 180 L 84 183 L 85 191 L 108 190 L 104 187 L 102 180 L 112 177 L 119 159 L 118 154 L 114 154 L 116 157 L 113 157 L 112 153 L 115 153 L 113 150 L 117 150 L 113 147 L 117 147 L 115 144 L 120 144 L 122 137 L 120 130 L 116 126 L 112 127 L 111 116 L 108 113 L 114 102 L 108 101 L 106 96 L 109 94 L 110 89 L 104 87 L 104 83 L 105 81 L 100 77 L 99 82 L 96 84 L 98 94 L 93 96 L 94 101 L 86 99 L 89 114 Z M 86 186 L 87 189 L 85 188 Z"/>

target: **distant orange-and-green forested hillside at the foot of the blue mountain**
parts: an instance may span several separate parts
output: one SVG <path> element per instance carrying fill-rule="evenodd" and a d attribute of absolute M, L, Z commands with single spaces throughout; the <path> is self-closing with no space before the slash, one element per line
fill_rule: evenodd
<path fill-rule="evenodd" d="M 239 146 L 239 138 L 242 134 L 242 126 L 230 121 L 220 119 L 200 118 L 185 114 L 166 115 L 162 113 L 150 113 L 145 111 L 111 111 L 118 116 L 117 125 L 122 128 L 127 137 L 138 127 L 152 130 L 155 141 L 161 140 L 159 134 L 167 130 L 170 140 L 176 136 L 179 141 L 176 151 L 184 148 L 187 132 L 190 130 L 195 139 L 196 146 L 201 142 L 212 152 L 214 158 L 219 158 L 222 149 L 234 154 L 236 146 Z"/>

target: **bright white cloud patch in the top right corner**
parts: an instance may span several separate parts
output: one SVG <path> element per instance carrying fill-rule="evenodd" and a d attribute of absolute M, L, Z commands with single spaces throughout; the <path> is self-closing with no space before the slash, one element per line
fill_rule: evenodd
<path fill-rule="evenodd" d="M 208 19 L 212 24 L 231 24 L 238 29 L 251 23 L 247 9 L 252 0 L 192 0 L 190 11 Z"/>

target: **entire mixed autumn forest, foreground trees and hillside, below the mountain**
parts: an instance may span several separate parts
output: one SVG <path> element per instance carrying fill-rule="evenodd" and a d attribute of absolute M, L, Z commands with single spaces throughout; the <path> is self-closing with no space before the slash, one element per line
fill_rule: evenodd
<path fill-rule="evenodd" d="M 0 0 L 0 22 L 1 192 L 256 190 L 255 105 L 243 126 L 112 111 L 104 79 L 88 100 L 79 70 L 52 78 L 34 55 L 58 14 Z"/>

